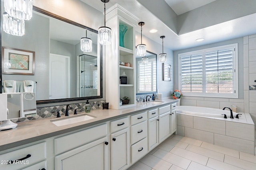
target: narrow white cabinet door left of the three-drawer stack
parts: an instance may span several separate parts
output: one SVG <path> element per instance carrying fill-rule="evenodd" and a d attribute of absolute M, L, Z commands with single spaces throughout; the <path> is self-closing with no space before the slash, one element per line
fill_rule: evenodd
<path fill-rule="evenodd" d="M 112 170 L 129 166 L 128 128 L 110 135 L 110 166 Z"/>

